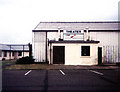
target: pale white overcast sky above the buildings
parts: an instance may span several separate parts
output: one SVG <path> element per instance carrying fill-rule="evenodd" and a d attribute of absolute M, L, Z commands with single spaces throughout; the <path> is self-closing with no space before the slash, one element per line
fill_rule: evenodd
<path fill-rule="evenodd" d="M 31 43 L 40 21 L 117 21 L 118 1 L 0 0 L 0 43 Z"/>

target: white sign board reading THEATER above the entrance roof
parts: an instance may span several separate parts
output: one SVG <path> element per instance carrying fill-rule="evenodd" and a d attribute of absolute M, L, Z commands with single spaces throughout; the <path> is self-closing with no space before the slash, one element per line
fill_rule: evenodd
<path fill-rule="evenodd" d="M 64 40 L 84 40 L 84 30 L 64 30 Z"/>

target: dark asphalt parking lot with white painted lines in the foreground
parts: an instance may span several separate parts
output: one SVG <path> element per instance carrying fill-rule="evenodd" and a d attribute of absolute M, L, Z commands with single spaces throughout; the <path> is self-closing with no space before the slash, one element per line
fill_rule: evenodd
<path fill-rule="evenodd" d="M 120 92 L 118 69 L 3 70 L 2 92 Z"/>

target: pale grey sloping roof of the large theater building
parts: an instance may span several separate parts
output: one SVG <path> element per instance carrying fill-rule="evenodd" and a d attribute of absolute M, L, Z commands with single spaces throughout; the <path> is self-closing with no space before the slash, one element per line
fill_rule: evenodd
<path fill-rule="evenodd" d="M 98 21 L 98 22 L 40 22 L 34 30 L 118 30 L 119 21 Z"/>

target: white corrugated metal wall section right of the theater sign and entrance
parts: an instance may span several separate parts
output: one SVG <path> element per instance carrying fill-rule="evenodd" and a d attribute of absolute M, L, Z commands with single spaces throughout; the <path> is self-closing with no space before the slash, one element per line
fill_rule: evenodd
<path fill-rule="evenodd" d="M 91 32 L 92 40 L 100 41 L 103 63 L 116 63 L 119 60 L 118 32 Z"/>

